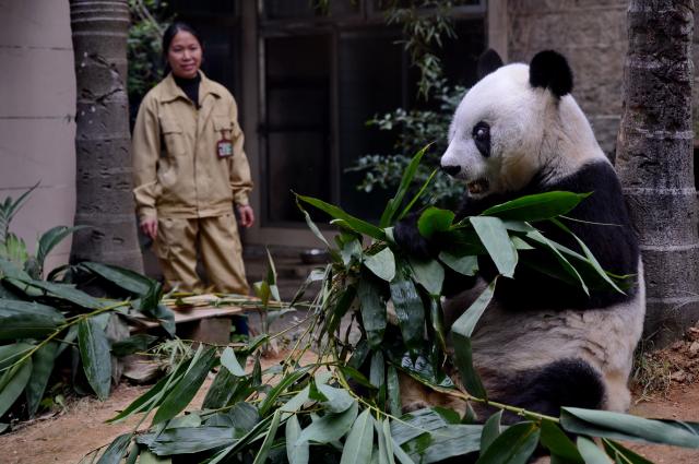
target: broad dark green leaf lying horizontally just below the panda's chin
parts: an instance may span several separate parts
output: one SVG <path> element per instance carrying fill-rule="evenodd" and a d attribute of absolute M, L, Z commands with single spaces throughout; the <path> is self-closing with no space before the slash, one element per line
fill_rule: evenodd
<path fill-rule="evenodd" d="M 590 193 L 562 191 L 537 193 L 495 205 L 484 211 L 483 215 L 534 223 L 566 214 L 588 197 Z"/>

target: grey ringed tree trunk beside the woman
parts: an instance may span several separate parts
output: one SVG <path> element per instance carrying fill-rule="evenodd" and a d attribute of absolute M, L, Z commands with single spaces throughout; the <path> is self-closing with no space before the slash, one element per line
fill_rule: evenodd
<path fill-rule="evenodd" d="M 78 111 L 75 225 L 71 262 L 143 271 L 131 176 L 127 0 L 70 0 Z"/>

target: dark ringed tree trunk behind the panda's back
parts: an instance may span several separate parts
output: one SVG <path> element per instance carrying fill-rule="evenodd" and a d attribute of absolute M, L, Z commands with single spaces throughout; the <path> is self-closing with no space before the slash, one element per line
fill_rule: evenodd
<path fill-rule="evenodd" d="M 661 346 L 699 317 L 692 28 L 692 0 L 629 3 L 616 168 L 645 265 L 645 333 Z"/>

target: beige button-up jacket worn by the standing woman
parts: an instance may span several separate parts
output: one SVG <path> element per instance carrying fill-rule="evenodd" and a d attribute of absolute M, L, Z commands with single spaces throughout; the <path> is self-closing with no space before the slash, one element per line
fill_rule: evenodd
<path fill-rule="evenodd" d="M 242 131 L 233 95 L 201 73 L 200 108 L 171 74 L 143 98 L 133 128 L 137 210 L 149 217 L 208 217 L 248 204 L 252 189 Z M 233 141 L 233 156 L 220 158 L 217 142 Z"/>

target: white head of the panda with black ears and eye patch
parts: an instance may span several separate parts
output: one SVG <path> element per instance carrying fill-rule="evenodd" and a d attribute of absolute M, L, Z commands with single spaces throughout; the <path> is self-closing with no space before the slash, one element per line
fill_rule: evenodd
<path fill-rule="evenodd" d="M 441 167 L 472 197 L 514 192 L 537 176 L 544 182 L 605 158 L 587 118 L 570 96 L 572 72 L 556 51 L 531 63 L 502 66 L 488 50 L 478 81 L 463 97 L 449 129 Z"/>

